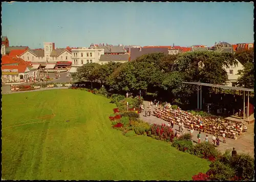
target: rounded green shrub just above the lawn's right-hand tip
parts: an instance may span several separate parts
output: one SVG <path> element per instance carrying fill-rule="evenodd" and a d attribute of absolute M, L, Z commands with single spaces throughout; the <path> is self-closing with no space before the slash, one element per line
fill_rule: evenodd
<path fill-rule="evenodd" d="M 208 142 L 202 142 L 194 147 L 194 154 L 198 157 L 207 158 L 210 161 L 214 161 L 221 153 L 215 148 L 215 146 Z"/>

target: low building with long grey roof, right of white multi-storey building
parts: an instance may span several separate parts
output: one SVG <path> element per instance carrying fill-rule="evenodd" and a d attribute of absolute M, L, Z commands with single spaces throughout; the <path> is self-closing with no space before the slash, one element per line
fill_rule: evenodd
<path fill-rule="evenodd" d="M 119 54 L 119 55 L 101 55 L 100 56 L 100 60 L 99 63 L 100 64 L 106 64 L 109 62 L 120 62 L 120 63 L 124 63 L 124 62 L 128 62 L 129 61 L 129 54 Z"/>

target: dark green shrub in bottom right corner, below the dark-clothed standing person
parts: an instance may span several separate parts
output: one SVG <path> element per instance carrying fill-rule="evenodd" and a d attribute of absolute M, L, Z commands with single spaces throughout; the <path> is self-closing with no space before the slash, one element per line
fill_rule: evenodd
<path fill-rule="evenodd" d="M 230 166 L 242 180 L 253 180 L 254 159 L 249 154 L 238 154 L 230 159 Z"/>

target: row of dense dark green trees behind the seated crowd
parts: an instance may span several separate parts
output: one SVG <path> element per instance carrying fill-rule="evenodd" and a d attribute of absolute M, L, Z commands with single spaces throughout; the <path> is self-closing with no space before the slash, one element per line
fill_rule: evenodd
<path fill-rule="evenodd" d="M 223 84 L 227 81 L 224 67 L 244 65 L 240 86 L 252 88 L 254 84 L 253 52 L 231 53 L 187 52 L 178 55 L 153 53 L 126 63 L 88 63 L 77 69 L 74 76 L 79 81 L 103 84 L 116 92 L 156 93 L 168 96 L 173 103 L 186 103 L 197 87 L 182 83 L 203 82 Z M 210 92 L 210 89 L 204 90 Z"/>

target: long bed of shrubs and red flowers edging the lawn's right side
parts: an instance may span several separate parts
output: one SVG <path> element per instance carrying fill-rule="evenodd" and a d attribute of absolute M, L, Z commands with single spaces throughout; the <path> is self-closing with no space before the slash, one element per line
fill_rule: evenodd
<path fill-rule="evenodd" d="M 211 143 L 202 142 L 193 146 L 191 137 L 182 136 L 177 139 L 172 128 L 165 124 L 148 124 L 139 119 L 134 109 L 120 114 L 119 108 L 113 109 L 115 116 L 110 116 L 113 128 L 123 131 L 125 136 L 147 135 L 157 140 L 171 142 L 173 147 L 183 152 L 205 158 L 210 161 L 210 170 L 192 176 L 193 180 L 252 180 L 254 176 L 254 159 L 241 154 L 231 157 L 230 151 L 224 154 Z M 124 119 L 126 117 L 126 119 Z M 129 124 L 127 124 L 127 119 Z M 242 172 L 241 172 L 242 171 Z"/>

